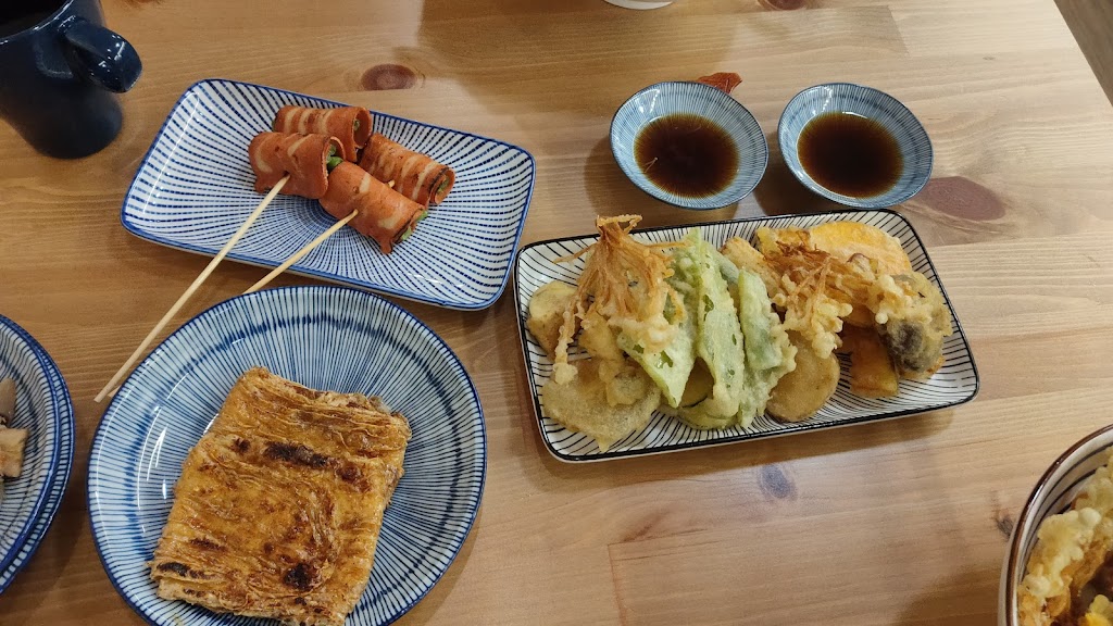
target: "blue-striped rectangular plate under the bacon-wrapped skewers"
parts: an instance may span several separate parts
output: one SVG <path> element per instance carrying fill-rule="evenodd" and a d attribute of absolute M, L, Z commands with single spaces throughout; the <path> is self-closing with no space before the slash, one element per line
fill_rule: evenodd
<path fill-rule="evenodd" d="M 124 198 L 124 227 L 155 243 L 214 256 L 262 199 L 247 145 L 270 128 L 285 105 L 343 106 L 232 80 L 203 80 L 187 89 Z M 343 228 L 289 271 L 449 309 L 494 304 L 506 286 L 529 211 L 533 157 L 495 139 L 372 115 L 376 133 L 452 167 L 452 193 L 391 254 Z M 334 222 L 316 200 L 279 195 L 228 258 L 275 267 Z"/>

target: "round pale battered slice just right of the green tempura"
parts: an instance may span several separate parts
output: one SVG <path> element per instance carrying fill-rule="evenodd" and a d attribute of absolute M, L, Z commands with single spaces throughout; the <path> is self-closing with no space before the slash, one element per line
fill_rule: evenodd
<path fill-rule="evenodd" d="M 800 333 L 789 332 L 796 346 L 796 369 L 788 372 L 772 389 L 766 412 L 786 422 L 799 422 L 819 410 L 838 387 L 838 359 L 835 354 L 816 354 L 811 343 Z"/>

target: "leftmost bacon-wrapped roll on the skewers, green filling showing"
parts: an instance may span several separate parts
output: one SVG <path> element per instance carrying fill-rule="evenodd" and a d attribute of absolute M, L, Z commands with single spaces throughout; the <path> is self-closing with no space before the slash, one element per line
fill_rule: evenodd
<path fill-rule="evenodd" d="M 343 159 L 344 146 L 327 135 L 259 133 L 247 147 L 255 190 L 264 193 L 289 174 L 282 193 L 317 199 L 328 188 L 329 159 Z"/>

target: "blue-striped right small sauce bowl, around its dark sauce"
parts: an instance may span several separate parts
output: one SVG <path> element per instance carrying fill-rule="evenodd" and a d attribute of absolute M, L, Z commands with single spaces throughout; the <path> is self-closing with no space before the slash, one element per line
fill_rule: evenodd
<path fill-rule="evenodd" d="M 893 187 L 877 196 L 856 198 L 820 186 L 800 165 L 797 143 L 809 121 L 825 113 L 851 113 L 885 127 L 900 146 L 904 172 Z M 932 140 L 916 116 L 900 100 L 871 87 L 853 82 L 829 82 L 797 94 L 780 116 L 777 143 L 785 164 L 805 187 L 827 199 L 858 208 L 884 208 L 915 196 L 932 178 Z"/>

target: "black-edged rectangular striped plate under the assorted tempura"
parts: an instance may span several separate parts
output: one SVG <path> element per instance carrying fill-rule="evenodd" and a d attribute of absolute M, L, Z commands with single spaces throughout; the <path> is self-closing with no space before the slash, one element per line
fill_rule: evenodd
<path fill-rule="evenodd" d="M 563 461 L 599 461 L 899 418 L 955 407 L 972 400 L 977 393 L 978 375 L 971 355 L 969 344 L 966 342 L 966 335 L 958 324 L 958 319 L 955 317 L 947 293 L 935 275 L 935 267 L 927 257 L 924 245 L 912 224 L 899 214 L 892 211 L 820 213 L 717 222 L 701 224 L 698 227 L 702 231 L 705 239 L 719 247 L 730 237 L 737 236 L 752 241 L 754 233 L 761 226 L 808 228 L 817 224 L 837 221 L 861 222 L 877 226 L 900 239 L 904 251 L 912 261 L 913 268 L 927 276 L 943 292 L 943 297 L 947 301 L 947 309 L 951 311 L 951 321 L 955 332 L 944 341 L 943 354 L 946 362 L 935 375 L 926 381 L 902 380 L 900 392 L 896 398 L 860 398 L 850 393 L 850 381 L 846 371 L 847 363 L 844 360 L 843 378 L 839 380 L 835 395 L 819 412 L 802 422 L 785 423 L 768 415 L 761 415 L 745 429 L 736 427 L 723 430 L 697 430 L 680 420 L 662 413 L 653 413 L 649 426 L 643 430 L 619 441 L 607 452 L 600 452 L 593 439 L 571 432 L 544 414 L 539 392 L 541 387 L 549 381 L 552 361 L 545 354 L 544 349 L 533 339 L 533 335 L 525 330 L 530 296 L 533 292 L 552 281 L 574 284 L 583 270 L 583 258 L 570 263 L 556 263 L 555 260 L 583 250 L 599 237 L 591 235 L 538 242 L 523 247 L 518 254 L 514 283 L 518 295 L 518 325 L 522 336 L 522 353 L 530 376 L 530 390 L 533 394 L 533 409 L 538 427 L 541 429 L 541 437 L 549 451 Z M 684 236 L 688 228 L 688 226 L 652 228 L 636 232 L 634 236 L 643 242 L 677 241 Z"/>

